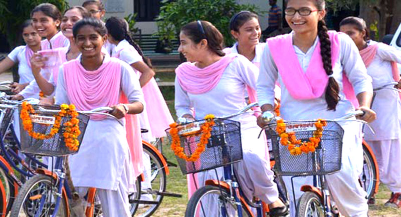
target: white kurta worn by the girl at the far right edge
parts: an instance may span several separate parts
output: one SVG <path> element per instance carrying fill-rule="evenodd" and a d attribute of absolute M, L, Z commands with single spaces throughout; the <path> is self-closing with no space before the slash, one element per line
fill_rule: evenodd
<path fill-rule="evenodd" d="M 369 45 L 374 44 L 378 46 L 377 53 L 367 67 L 367 74 L 373 80 L 373 89 L 394 82 L 390 61 L 401 63 L 400 51 L 383 43 L 369 41 Z M 376 112 L 377 118 L 370 123 L 375 134 L 366 128 L 364 130 L 365 140 L 399 139 L 401 135 L 401 101 L 398 92 L 382 89 L 375 91 L 375 94 L 372 109 Z"/>

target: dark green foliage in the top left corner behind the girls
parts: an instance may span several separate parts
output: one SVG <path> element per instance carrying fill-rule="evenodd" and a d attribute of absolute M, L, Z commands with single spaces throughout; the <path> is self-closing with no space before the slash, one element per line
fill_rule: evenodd
<path fill-rule="evenodd" d="M 68 8 L 66 0 L 0 0 L 0 31 L 7 35 L 11 47 L 21 44 L 22 23 L 30 19 L 32 9 L 42 3 L 51 3 L 62 12 Z"/>

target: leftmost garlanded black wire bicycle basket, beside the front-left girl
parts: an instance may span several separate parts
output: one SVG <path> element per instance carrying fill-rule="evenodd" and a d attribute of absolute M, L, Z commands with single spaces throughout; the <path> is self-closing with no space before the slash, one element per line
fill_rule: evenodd
<path fill-rule="evenodd" d="M 39 106 L 32 105 L 35 110 L 35 117 L 31 116 L 33 131 L 48 134 L 53 127 L 54 124 L 54 115 L 58 114 L 58 111 L 50 112 L 44 111 L 44 109 L 48 110 L 60 110 L 60 106 Z M 44 108 L 44 109 L 43 109 Z M 19 106 L 19 112 L 21 115 L 22 106 Z M 71 117 L 66 116 L 61 118 L 60 130 L 56 133 L 52 138 L 49 139 L 35 139 L 28 134 L 28 131 L 24 130 L 24 126 L 22 120 L 20 118 L 20 132 L 21 132 L 21 151 L 24 153 L 36 154 L 36 155 L 46 155 L 46 156 L 65 156 L 69 154 L 77 153 L 77 151 L 70 150 L 65 142 L 63 133 L 65 130 L 64 123 L 70 120 Z M 82 138 L 85 134 L 85 129 L 89 121 L 89 116 L 79 114 L 79 130 L 81 134 L 78 136 L 79 144 L 82 142 Z M 35 120 L 34 120 L 35 119 Z M 81 145 L 80 145 L 81 146 Z"/>

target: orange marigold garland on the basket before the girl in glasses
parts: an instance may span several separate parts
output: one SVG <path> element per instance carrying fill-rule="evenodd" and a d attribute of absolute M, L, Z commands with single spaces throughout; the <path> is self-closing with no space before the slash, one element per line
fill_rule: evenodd
<path fill-rule="evenodd" d="M 301 142 L 295 136 L 295 132 L 286 132 L 286 125 L 283 119 L 277 120 L 276 131 L 280 136 L 280 144 L 287 146 L 291 155 L 314 152 L 319 145 L 320 138 L 323 135 L 323 127 L 327 125 L 327 122 L 323 119 L 318 119 L 314 125 L 316 130 L 313 132 L 313 136 L 309 138 L 309 141 Z"/>

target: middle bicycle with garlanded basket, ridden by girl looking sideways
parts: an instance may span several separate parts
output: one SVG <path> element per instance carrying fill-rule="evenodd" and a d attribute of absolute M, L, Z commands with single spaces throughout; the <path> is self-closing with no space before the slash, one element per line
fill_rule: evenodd
<path fill-rule="evenodd" d="M 237 182 L 233 164 L 242 160 L 242 144 L 240 123 L 230 118 L 246 113 L 257 103 L 247 105 L 240 112 L 225 117 L 214 118 L 215 125 L 212 127 L 211 137 L 199 158 L 194 161 L 185 161 L 179 157 L 178 164 L 183 174 L 196 173 L 206 170 L 215 170 L 217 179 L 207 180 L 205 186 L 198 188 L 190 198 L 185 216 L 266 216 L 269 212 L 268 206 L 260 199 L 254 198 L 249 201 L 242 193 L 241 186 Z M 254 111 L 252 111 L 253 113 Z M 186 155 L 192 154 L 199 141 L 198 126 L 205 120 L 196 120 L 189 123 L 179 124 L 177 127 L 185 129 L 185 134 L 180 136 L 180 145 Z M 168 129 L 166 130 L 168 133 Z M 218 178 L 217 168 L 223 167 L 224 178 Z M 282 180 L 275 178 L 278 184 L 280 198 L 286 203 L 288 201 Z M 204 203 L 217 205 L 216 212 L 209 213 L 212 207 L 206 207 Z"/>

